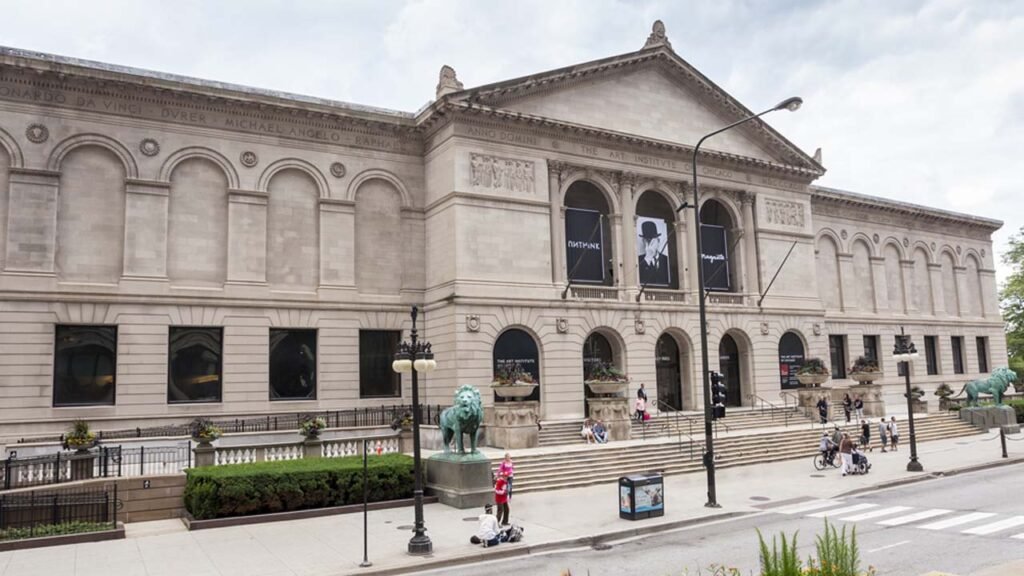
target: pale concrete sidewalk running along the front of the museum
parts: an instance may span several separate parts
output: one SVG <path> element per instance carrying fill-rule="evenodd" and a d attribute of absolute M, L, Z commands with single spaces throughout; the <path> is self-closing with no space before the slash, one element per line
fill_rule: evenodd
<path fill-rule="evenodd" d="M 1024 440 L 1020 435 L 1013 438 Z M 665 517 L 639 522 L 618 519 L 615 485 L 522 494 L 512 499 L 511 511 L 513 522 L 525 529 L 523 541 L 494 548 L 468 541 L 475 532 L 478 510 L 429 504 L 424 518 L 434 553 L 427 558 L 406 553 L 412 535 L 412 507 L 377 510 L 370 512 L 368 522 L 370 568 L 358 567 L 362 560 L 362 515 L 354 513 L 198 532 L 187 532 L 178 521 L 133 524 L 128 526 L 125 540 L 0 552 L 0 576 L 404 574 L 664 532 L 715 518 L 756 513 L 761 511 L 756 506 L 770 502 L 830 498 L 939 472 L 1024 461 L 1024 445 L 1010 444 L 1015 456 L 1010 459 L 1000 458 L 995 433 L 922 444 L 919 455 L 926 470 L 922 474 L 905 471 L 909 457 L 906 446 L 896 453 L 869 454 L 871 474 L 862 477 L 842 478 L 838 469 L 819 472 L 810 458 L 727 468 L 718 472 L 722 507 L 717 509 L 703 506 L 705 474 L 668 477 Z M 757 553 L 756 545 L 751 542 L 752 554 Z M 551 574 L 557 573 L 553 566 Z M 986 574 L 1001 576 L 998 572 Z"/>

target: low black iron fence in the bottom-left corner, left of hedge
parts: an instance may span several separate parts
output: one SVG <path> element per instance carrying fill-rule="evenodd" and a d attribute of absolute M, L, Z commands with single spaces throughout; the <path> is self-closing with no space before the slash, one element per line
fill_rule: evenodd
<path fill-rule="evenodd" d="M 0 540 L 117 528 L 118 487 L 0 494 Z"/>

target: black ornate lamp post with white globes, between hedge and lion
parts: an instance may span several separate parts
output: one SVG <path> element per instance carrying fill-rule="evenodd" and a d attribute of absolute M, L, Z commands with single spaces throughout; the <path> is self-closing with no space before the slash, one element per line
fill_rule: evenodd
<path fill-rule="evenodd" d="M 420 386 L 417 374 L 433 372 L 437 368 L 434 355 L 430 352 L 430 342 L 421 342 L 416 333 L 416 317 L 420 308 L 413 306 L 411 316 L 413 317 L 413 329 L 409 333 L 409 341 L 398 344 L 398 353 L 394 355 L 394 362 L 391 369 L 398 373 L 412 372 L 413 375 L 413 474 L 416 475 L 414 481 L 413 496 L 416 499 L 416 528 L 415 534 L 409 540 L 409 553 L 429 554 L 433 551 L 433 543 L 430 536 L 427 536 L 427 529 L 423 526 L 423 474 L 420 462 Z"/>

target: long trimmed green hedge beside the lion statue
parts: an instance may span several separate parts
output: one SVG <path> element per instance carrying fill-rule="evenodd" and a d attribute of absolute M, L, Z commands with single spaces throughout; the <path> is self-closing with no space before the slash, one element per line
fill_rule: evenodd
<path fill-rule="evenodd" d="M 413 459 L 370 456 L 370 501 L 413 496 Z M 362 456 L 205 466 L 187 470 L 185 509 L 197 520 L 362 502 Z"/>

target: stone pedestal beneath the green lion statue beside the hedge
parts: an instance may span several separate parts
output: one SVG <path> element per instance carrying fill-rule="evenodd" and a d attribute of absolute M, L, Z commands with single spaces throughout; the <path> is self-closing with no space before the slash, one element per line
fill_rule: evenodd
<path fill-rule="evenodd" d="M 424 463 L 427 493 L 442 504 L 465 509 L 495 502 L 490 460 L 483 454 L 434 454 Z"/>

